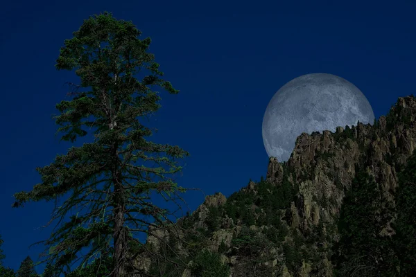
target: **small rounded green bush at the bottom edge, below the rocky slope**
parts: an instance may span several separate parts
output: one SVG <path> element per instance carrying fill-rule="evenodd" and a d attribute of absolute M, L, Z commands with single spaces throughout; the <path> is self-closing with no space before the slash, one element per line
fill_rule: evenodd
<path fill-rule="evenodd" d="M 223 265 L 218 253 L 211 253 L 207 249 L 196 256 L 191 266 L 191 274 L 195 277 L 228 277 L 229 273 L 229 266 Z"/>

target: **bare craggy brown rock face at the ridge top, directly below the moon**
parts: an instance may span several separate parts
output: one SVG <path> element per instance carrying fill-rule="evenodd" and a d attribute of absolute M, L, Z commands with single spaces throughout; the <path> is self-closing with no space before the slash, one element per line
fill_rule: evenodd
<path fill-rule="evenodd" d="M 288 167 L 297 176 L 291 180 L 299 184 L 297 202 L 291 213 L 293 225 L 302 232 L 320 220 L 332 222 L 339 214 L 345 191 L 355 176 L 355 166 L 365 167 L 376 183 L 381 185 L 388 199 L 397 188 L 397 170 L 406 164 L 416 146 L 416 101 L 413 97 L 399 98 L 390 110 L 389 123 L 385 116 L 376 126 L 358 123 L 345 134 L 338 127 L 335 134 L 302 134 L 297 138 Z M 394 118 L 394 120 L 393 120 Z M 341 139 L 340 139 L 341 138 Z M 270 175 L 281 175 L 275 170 L 275 159 L 270 159 Z M 303 178 L 302 173 L 308 177 Z M 329 199 L 327 208 L 318 204 Z"/>

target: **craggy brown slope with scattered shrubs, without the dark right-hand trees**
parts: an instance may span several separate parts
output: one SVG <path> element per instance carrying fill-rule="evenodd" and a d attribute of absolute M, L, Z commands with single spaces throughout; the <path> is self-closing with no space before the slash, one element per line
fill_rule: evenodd
<path fill-rule="evenodd" d="M 184 230 L 203 235 L 191 238 L 182 233 L 180 238 L 191 243 L 177 248 L 189 265 L 195 264 L 202 249 L 215 253 L 229 268 L 223 276 L 333 276 L 340 214 L 346 195 L 357 186 L 353 185 L 357 171 L 374 178 L 381 206 L 394 207 L 399 170 L 416 148 L 415 116 L 416 98 L 408 96 L 399 98 L 388 116 L 374 125 L 301 134 L 287 162 L 270 158 L 266 180 L 250 182 L 229 199 L 220 193 L 207 196 L 192 215 L 179 220 L 177 225 Z M 396 218 L 397 213 L 391 212 L 374 235 L 395 235 Z M 150 243 L 159 249 L 152 236 Z M 198 268 L 202 270 L 202 265 Z M 196 274 L 183 269 L 182 276 Z"/>

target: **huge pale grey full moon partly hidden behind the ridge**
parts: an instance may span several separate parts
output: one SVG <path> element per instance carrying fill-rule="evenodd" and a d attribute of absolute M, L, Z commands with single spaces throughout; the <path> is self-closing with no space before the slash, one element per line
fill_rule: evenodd
<path fill-rule="evenodd" d="M 297 136 L 374 123 L 370 102 L 354 84 L 336 75 L 313 73 L 285 84 L 268 103 L 263 143 L 269 157 L 288 161 Z"/>

